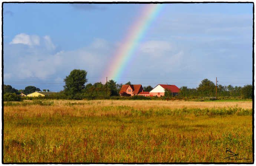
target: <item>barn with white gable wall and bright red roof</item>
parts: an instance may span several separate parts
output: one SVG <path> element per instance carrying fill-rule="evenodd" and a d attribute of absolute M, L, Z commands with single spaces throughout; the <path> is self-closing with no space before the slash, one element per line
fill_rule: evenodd
<path fill-rule="evenodd" d="M 161 96 L 164 96 L 164 90 L 170 90 L 173 93 L 173 96 L 177 95 L 180 91 L 180 89 L 175 85 L 158 84 L 149 93 L 150 93 L 150 96 L 161 97 Z"/>

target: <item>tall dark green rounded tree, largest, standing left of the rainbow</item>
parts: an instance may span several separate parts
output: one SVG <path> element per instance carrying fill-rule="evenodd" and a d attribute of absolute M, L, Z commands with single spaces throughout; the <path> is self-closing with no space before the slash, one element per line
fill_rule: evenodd
<path fill-rule="evenodd" d="M 77 93 L 82 93 L 85 89 L 87 72 L 85 70 L 74 69 L 70 72 L 69 76 L 64 79 L 65 86 L 64 92 L 70 98 L 74 98 Z"/>

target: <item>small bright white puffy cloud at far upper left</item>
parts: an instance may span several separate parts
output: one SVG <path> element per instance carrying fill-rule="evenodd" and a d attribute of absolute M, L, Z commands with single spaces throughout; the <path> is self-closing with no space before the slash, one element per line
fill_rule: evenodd
<path fill-rule="evenodd" d="M 24 33 L 16 35 L 10 44 L 25 44 L 25 45 L 39 45 L 40 38 L 37 35 L 27 35 Z"/>

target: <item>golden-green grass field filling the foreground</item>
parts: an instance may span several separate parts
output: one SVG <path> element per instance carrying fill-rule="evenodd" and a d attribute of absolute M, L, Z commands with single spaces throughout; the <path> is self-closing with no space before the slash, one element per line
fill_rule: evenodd
<path fill-rule="evenodd" d="M 253 162 L 252 139 L 252 101 L 4 103 L 5 163 Z"/>

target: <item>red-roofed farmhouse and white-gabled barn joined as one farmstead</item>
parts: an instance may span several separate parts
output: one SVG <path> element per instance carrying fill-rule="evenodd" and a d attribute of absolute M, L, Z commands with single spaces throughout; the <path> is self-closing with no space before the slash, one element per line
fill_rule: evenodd
<path fill-rule="evenodd" d="M 177 95 L 180 89 L 175 85 L 165 85 L 165 84 L 158 84 L 154 89 L 150 92 L 144 92 L 142 85 L 123 85 L 119 94 L 120 96 L 134 96 L 134 95 L 141 95 L 141 96 L 157 96 L 161 97 L 164 96 L 165 90 L 171 91 L 173 96 Z"/>

